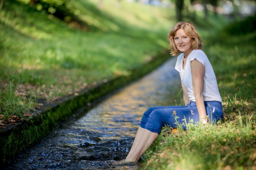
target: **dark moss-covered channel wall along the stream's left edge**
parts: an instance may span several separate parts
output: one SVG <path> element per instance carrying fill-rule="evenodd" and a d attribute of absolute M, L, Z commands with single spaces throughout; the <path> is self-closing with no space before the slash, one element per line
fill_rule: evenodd
<path fill-rule="evenodd" d="M 36 108 L 32 118 L 0 131 L 0 163 L 8 162 L 28 146 L 38 143 L 79 108 L 146 75 L 168 58 L 170 54 L 164 51 L 142 67 L 132 69 L 129 76 L 116 77 L 93 88 L 86 88 L 79 95 L 66 96 L 54 103 L 45 104 L 40 109 Z"/>

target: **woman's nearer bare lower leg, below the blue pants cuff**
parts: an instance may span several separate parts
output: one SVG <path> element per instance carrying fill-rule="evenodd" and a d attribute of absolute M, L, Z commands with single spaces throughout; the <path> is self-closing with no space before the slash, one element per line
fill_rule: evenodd
<path fill-rule="evenodd" d="M 139 158 L 146 152 L 146 150 L 153 144 L 153 142 L 157 139 L 158 133 L 151 132 L 145 129 L 142 133 L 141 139 L 137 147 L 134 149 L 133 153 L 130 156 L 126 157 L 125 161 L 136 162 Z"/>

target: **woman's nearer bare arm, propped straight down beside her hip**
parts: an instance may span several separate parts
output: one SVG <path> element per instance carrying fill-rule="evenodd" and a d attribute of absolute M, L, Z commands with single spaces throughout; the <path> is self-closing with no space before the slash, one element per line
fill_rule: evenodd
<path fill-rule="evenodd" d="M 200 121 L 206 120 L 206 110 L 203 98 L 203 78 L 204 78 L 204 65 L 198 60 L 191 61 L 191 74 L 193 93 L 196 100 L 196 107 L 199 112 Z"/>

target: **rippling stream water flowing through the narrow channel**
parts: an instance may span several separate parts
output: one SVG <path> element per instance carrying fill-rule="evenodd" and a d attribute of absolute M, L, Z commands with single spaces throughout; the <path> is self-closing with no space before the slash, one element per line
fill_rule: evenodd
<path fill-rule="evenodd" d="M 137 169 L 143 163 L 125 159 L 143 112 L 174 105 L 180 91 L 172 58 L 120 89 L 93 109 L 62 123 L 39 144 L 26 149 L 6 169 Z"/>

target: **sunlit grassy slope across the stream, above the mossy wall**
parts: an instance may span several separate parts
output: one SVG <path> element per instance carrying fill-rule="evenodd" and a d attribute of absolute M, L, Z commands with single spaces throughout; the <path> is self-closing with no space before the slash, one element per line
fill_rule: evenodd
<path fill-rule="evenodd" d="M 168 49 L 172 10 L 126 1 L 118 8 L 115 0 L 104 1 L 99 10 L 97 2 L 69 1 L 70 10 L 79 10 L 78 17 L 95 31 L 49 19 L 45 11 L 26 4 L 5 2 L 0 12 L 0 115 L 28 112 L 36 105 L 23 98 L 30 90 L 29 96 L 50 101 L 129 75 L 129 69 Z"/>

